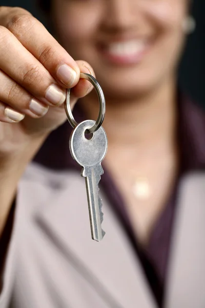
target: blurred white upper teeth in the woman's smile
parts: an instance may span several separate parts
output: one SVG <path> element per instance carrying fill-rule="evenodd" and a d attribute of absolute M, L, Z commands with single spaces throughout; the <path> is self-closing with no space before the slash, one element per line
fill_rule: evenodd
<path fill-rule="evenodd" d="M 108 52 L 112 55 L 129 56 L 142 52 L 146 46 L 145 40 L 112 43 L 108 46 Z"/>

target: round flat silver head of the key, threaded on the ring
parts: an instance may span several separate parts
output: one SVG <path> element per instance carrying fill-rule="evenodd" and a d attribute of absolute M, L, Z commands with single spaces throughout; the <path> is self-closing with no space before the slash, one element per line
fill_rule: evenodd
<path fill-rule="evenodd" d="M 100 164 L 108 149 L 107 135 L 102 126 L 93 133 L 91 140 L 85 137 L 85 131 L 94 124 L 93 120 L 81 122 L 75 127 L 70 137 L 71 155 L 84 168 Z"/>

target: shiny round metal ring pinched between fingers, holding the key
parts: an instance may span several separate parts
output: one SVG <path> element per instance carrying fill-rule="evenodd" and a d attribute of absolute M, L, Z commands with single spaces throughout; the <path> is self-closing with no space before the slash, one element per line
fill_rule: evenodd
<path fill-rule="evenodd" d="M 80 73 L 80 78 L 88 80 L 94 86 L 95 91 L 97 92 L 98 100 L 99 100 L 99 114 L 98 114 L 97 121 L 92 127 L 88 128 L 89 132 L 93 133 L 96 130 L 98 130 L 98 128 L 102 125 L 104 121 L 105 113 L 106 113 L 106 101 L 105 101 L 103 90 L 101 89 L 97 80 L 92 75 L 87 74 L 87 73 Z M 70 89 L 67 89 L 65 110 L 66 110 L 66 115 L 67 115 L 70 125 L 73 128 L 75 128 L 78 125 L 78 123 L 73 118 L 73 114 L 70 108 Z"/>

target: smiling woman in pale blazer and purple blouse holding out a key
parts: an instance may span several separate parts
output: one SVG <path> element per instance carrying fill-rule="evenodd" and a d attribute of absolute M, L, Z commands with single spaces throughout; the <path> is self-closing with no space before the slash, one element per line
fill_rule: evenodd
<path fill-rule="evenodd" d="M 0 9 L 0 306 L 202 308 L 204 114 L 176 82 L 189 1 L 46 8 L 59 43 L 29 12 Z M 107 102 L 100 243 L 68 149 L 66 88 L 78 122 L 98 114 L 79 72 L 95 72 Z"/>

